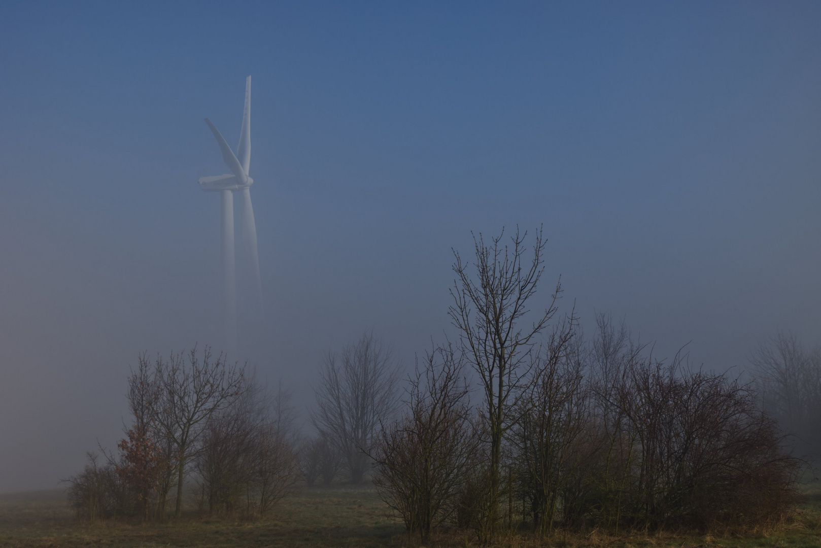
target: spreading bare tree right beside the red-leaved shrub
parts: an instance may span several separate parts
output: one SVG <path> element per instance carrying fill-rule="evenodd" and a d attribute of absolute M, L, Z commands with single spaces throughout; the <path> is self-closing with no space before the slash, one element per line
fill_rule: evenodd
<path fill-rule="evenodd" d="M 181 354 L 172 354 L 168 361 L 158 357 L 155 367 L 162 391 L 157 420 L 175 458 L 177 517 L 182 512 L 186 465 L 195 456 L 200 435 L 215 413 L 240 397 L 245 376 L 244 367 L 229 365 L 224 355 L 214 360 L 209 347 L 204 348 L 201 359 L 196 348 L 187 357 L 187 365 Z"/>

